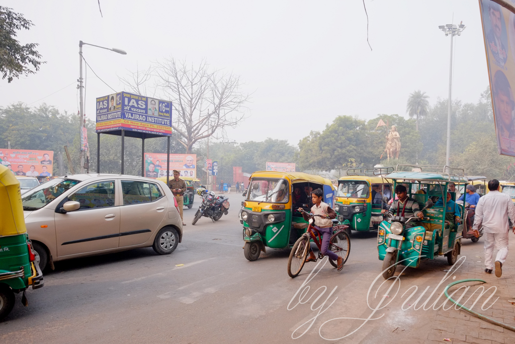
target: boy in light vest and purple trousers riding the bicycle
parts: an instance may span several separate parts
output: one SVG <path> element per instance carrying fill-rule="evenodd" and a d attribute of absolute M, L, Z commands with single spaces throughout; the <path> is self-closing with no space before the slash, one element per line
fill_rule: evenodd
<path fill-rule="evenodd" d="M 328 256 L 331 260 L 336 261 L 338 266 L 338 271 L 340 271 L 344 267 L 344 260 L 339 257 L 336 253 L 329 250 L 329 241 L 331 240 L 331 236 L 333 235 L 333 221 L 331 219 L 336 218 L 336 212 L 331 209 L 329 204 L 322 202 L 323 191 L 321 189 L 316 189 L 311 192 L 311 198 L 314 206 L 311 207 L 311 212 L 315 216 L 313 219 L 315 220 L 315 228 L 322 235 L 322 247 L 320 252 L 324 256 Z M 301 211 L 302 210 L 302 211 Z M 309 215 L 303 211 L 304 209 L 299 208 L 299 211 L 302 212 L 302 216 L 304 220 L 309 219 Z M 310 248 L 310 255 L 306 258 L 306 263 L 308 261 L 315 261 L 316 257 L 313 251 Z"/>

